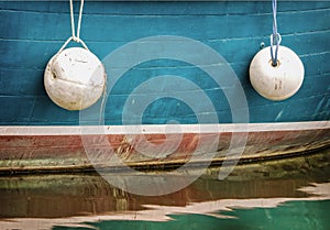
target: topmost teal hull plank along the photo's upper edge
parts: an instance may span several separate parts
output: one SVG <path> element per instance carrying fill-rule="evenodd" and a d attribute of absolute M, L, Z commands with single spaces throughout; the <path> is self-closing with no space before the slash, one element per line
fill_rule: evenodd
<path fill-rule="evenodd" d="M 292 11 L 306 11 L 314 9 L 327 9 L 329 8 L 329 1 L 310 1 L 297 3 L 297 1 L 279 1 L 280 12 L 292 12 Z M 78 11 L 78 3 L 74 2 L 76 12 Z M 110 8 L 111 7 L 111 8 Z M 19 1 L 1 1 L 0 9 L 9 9 L 16 11 L 28 11 L 28 12 L 47 12 L 47 13 L 69 13 L 68 2 L 66 1 L 54 1 L 51 4 L 29 4 Z M 252 1 L 248 4 L 240 4 L 237 1 L 135 1 L 133 4 L 128 4 L 125 2 L 114 1 L 109 2 L 108 6 L 105 4 L 89 4 L 88 8 L 84 9 L 86 14 L 132 14 L 132 15 L 223 15 L 227 13 L 233 14 L 246 14 L 253 13 L 271 13 L 272 7 L 270 4 Z"/>

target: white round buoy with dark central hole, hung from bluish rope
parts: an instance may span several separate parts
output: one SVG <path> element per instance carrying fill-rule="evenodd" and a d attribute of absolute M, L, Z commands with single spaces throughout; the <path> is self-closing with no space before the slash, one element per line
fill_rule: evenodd
<path fill-rule="evenodd" d="M 277 65 L 272 65 L 271 46 L 261 50 L 250 65 L 253 88 L 270 100 L 284 100 L 295 95 L 304 80 L 304 65 L 290 48 L 279 45 Z"/>

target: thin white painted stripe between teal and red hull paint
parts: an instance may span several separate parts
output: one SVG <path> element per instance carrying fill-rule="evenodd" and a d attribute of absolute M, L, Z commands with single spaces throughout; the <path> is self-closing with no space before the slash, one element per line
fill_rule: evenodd
<path fill-rule="evenodd" d="M 219 124 L 138 124 L 138 125 L 26 125 L 0 127 L 0 135 L 81 135 L 81 134 L 165 134 L 266 132 L 330 129 L 330 121 Z"/>

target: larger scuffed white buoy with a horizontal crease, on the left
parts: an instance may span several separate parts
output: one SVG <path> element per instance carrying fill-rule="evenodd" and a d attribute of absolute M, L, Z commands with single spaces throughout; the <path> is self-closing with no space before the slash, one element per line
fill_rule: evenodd
<path fill-rule="evenodd" d="M 86 48 L 66 48 L 52 57 L 44 74 L 50 98 L 67 110 L 94 105 L 106 86 L 106 72 L 99 58 Z"/>

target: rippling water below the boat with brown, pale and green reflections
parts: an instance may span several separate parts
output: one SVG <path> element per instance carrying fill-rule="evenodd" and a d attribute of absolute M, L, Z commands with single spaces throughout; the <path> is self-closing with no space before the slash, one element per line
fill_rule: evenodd
<path fill-rule="evenodd" d="M 330 152 L 218 168 L 177 193 L 142 197 L 97 174 L 0 178 L 0 229 L 329 229 Z M 155 185 L 151 185 L 155 186 Z"/>

